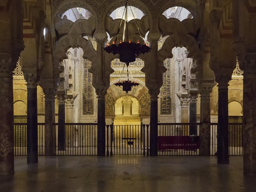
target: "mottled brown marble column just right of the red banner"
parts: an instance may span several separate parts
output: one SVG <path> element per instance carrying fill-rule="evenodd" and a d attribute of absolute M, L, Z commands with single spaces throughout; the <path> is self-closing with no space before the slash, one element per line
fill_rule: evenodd
<path fill-rule="evenodd" d="M 200 150 L 199 154 L 202 156 L 210 156 L 211 147 L 211 96 L 212 87 L 204 87 L 201 91 L 200 99 Z"/>

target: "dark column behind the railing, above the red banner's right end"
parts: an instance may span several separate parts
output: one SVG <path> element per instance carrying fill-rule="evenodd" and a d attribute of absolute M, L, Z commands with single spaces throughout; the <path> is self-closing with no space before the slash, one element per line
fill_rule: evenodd
<path fill-rule="evenodd" d="M 196 123 L 196 99 L 198 93 L 190 93 L 189 123 Z M 189 125 L 189 135 L 197 135 L 197 125 Z"/>

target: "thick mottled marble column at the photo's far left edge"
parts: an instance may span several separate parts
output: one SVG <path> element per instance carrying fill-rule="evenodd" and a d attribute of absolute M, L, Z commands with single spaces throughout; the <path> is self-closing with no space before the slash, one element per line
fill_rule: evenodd
<path fill-rule="evenodd" d="M 12 55 L 0 54 L 0 174 L 14 174 Z"/>

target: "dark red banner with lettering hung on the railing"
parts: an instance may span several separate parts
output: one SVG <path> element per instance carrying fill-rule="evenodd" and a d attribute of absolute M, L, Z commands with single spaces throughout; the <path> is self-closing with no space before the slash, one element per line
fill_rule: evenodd
<path fill-rule="evenodd" d="M 158 136 L 158 150 L 199 149 L 199 136 Z"/>

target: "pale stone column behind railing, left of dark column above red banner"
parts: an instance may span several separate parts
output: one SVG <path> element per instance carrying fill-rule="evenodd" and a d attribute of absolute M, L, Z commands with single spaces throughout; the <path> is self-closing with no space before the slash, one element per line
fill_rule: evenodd
<path fill-rule="evenodd" d="M 189 122 L 189 98 L 180 98 L 180 105 L 181 105 L 181 123 L 188 123 Z M 183 128 L 182 130 L 182 136 L 188 136 L 189 130 L 187 126 L 181 126 Z"/>

